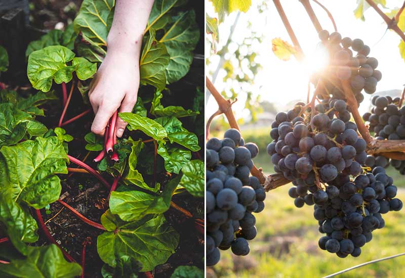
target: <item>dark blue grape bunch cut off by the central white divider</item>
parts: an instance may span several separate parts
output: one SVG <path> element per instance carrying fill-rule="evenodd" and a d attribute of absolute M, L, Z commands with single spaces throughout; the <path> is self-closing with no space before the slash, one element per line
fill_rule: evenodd
<path fill-rule="evenodd" d="M 206 248 L 207 266 L 212 266 L 220 259 L 219 249 L 239 256 L 250 252 L 248 241 L 257 234 L 252 213 L 264 209 L 266 194 L 259 179 L 249 176 L 259 149 L 245 144 L 237 129 L 226 130 L 223 140 L 211 138 L 206 149 Z"/>

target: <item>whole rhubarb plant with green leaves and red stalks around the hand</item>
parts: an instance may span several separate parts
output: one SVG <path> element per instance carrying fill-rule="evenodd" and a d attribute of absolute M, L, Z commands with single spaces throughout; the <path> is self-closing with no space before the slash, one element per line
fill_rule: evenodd
<path fill-rule="evenodd" d="M 5 231 L 0 247 L 8 244 L 14 254 L 0 252 L 7 262 L 0 263 L 1 274 L 79 275 L 91 265 L 85 255 L 93 241 L 105 263 L 103 277 L 136 277 L 181 252 L 184 219 L 196 227 L 198 244 L 198 231 L 204 230 L 204 220 L 198 219 L 204 215 L 204 92 L 193 85 L 185 98 L 179 89 L 200 32 L 186 2 L 154 2 L 142 41 L 137 103 L 132 113 L 114 113 L 103 138 L 84 127 L 92 120 L 87 94 L 107 51 L 114 0 L 84 0 L 64 31 L 52 30 L 28 44 L 28 94 L 0 83 L 0 222 Z M 0 71 L 7 68 L 7 52 L 0 47 Z M 74 107 L 69 106 L 73 99 Z M 48 113 L 58 107 L 58 118 L 50 119 Z M 116 136 L 118 117 L 128 123 L 123 138 Z M 81 204 L 99 208 L 98 217 L 83 215 L 69 205 L 72 199 L 63 199 L 74 187 L 85 190 L 70 178 L 76 173 L 86 176 L 87 190 L 104 195 L 96 204 Z M 196 215 L 177 204 L 182 198 Z M 200 213 L 195 203 L 202 204 Z M 66 209 L 56 213 L 56 206 Z M 73 213 L 97 229 L 98 236 L 89 233 L 79 247 L 81 257 L 49 230 L 59 213 Z"/>

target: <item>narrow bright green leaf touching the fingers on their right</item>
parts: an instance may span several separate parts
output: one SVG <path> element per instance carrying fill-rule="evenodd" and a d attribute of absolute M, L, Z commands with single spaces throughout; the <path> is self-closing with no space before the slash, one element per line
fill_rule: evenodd
<path fill-rule="evenodd" d="M 133 130 L 141 130 L 149 137 L 152 137 L 158 142 L 163 142 L 163 139 L 167 137 L 166 129 L 147 117 L 142 117 L 133 113 L 119 113 L 118 116 L 125 122 L 127 122 Z"/>

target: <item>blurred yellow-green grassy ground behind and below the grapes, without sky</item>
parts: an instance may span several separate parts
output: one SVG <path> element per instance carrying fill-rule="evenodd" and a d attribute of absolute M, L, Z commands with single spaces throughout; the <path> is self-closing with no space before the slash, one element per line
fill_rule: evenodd
<path fill-rule="evenodd" d="M 271 173 L 270 157 L 265 142 L 268 130 L 242 130 L 246 142 L 257 142 L 260 155 L 255 165 Z M 217 135 L 218 134 L 213 134 Z M 267 142 L 269 143 L 269 142 Z M 390 171 L 390 173 L 395 173 Z M 393 175 L 399 189 L 398 198 L 405 200 L 404 177 Z M 395 184 L 395 182 L 394 182 Z M 385 227 L 373 233 L 373 240 L 361 248 L 360 257 L 338 258 L 318 247 L 317 221 L 313 208 L 298 209 L 288 196 L 289 185 L 267 194 L 266 207 L 256 217 L 258 236 L 250 242 L 246 257 L 221 251 L 221 260 L 207 269 L 207 277 L 322 277 L 362 262 L 405 252 L 405 210 L 383 215 Z M 403 257 L 363 266 L 338 277 L 402 277 L 405 272 Z"/>

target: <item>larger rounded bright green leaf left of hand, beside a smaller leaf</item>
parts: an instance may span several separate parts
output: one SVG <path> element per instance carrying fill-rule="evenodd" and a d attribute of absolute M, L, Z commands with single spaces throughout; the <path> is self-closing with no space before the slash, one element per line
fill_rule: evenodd
<path fill-rule="evenodd" d="M 28 57 L 27 75 L 32 86 L 47 92 L 51 89 L 52 80 L 57 84 L 72 79 L 74 66 L 67 66 L 74 53 L 61 45 L 52 45 L 32 52 Z"/>

